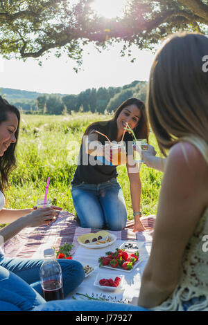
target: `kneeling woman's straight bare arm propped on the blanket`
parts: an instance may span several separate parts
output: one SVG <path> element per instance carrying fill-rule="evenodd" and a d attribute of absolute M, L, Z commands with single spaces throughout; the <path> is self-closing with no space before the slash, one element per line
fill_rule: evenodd
<path fill-rule="evenodd" d="M 132 201 L 132 209 L 133 212 L 140 212 L 140 199 L 141 199 L 141 180 L 139 176 L 139 168 L 138 165 L 128 165 L 126 164 L 127 171 L 128 171 L 128 178 L 130 180 L 130 194 L 131 194 L 131 201 Z M 139 220 L 140 216 L 134 216 L 135 219 L 135 227 L 133 232 L 141 232 L 144 231 L 145 228 L 141 224 Z"/>

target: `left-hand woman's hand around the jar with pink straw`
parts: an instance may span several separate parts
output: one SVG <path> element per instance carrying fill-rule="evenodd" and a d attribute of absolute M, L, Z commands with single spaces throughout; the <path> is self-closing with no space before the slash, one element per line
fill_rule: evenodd
<path fill-rule="evenodd" d="M 58 215 L 58 212 L 61 211 L 61 207 L 44 207 L 37 209 L 33 207 L 33 212 L 23 216 L 26 227 L 37 227 L 38 225 L 49 225 L 51 222 L 55 221 L 55 217 Z"/>

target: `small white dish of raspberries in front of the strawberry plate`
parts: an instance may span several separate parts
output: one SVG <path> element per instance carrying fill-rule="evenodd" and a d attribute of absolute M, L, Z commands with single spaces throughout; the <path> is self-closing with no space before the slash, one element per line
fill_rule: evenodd
<path fill-rule="evenodd" d="M 114 291 L 116 289 L 124 290 L 123 288 L 123 275 L 111 275 L 106 273 L 98 273 L 96 280 L 94 281 L 94 286 L 108 291 Z"/>

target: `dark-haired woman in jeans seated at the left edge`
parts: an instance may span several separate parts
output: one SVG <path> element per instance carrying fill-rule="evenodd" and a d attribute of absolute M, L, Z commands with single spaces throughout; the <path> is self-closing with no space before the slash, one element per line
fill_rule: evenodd
<path fill-rule="evenodd" d="M 4 209 L 3 190 L 8 185 L 10 170 L 15 167 L 15 148 L 19 133 L 19 111 L 0 97 L 0 223 L 9 223 L 0 230 L 0 246 L 26 227 L 55 221 L 59 207 L 41 210 Z M 45 302 L 40 285 L 41 259 L 11 259 L 3 256 L 0 247 L 0 310 L 32 310 Z M 64 296 L 73 291 L 85 278 L 78 261 L 59 259 L 62 268 Z"/>

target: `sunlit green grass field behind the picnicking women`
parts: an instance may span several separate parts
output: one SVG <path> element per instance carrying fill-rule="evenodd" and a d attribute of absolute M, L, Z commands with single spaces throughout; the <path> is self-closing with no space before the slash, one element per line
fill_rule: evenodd
<path fill-rule="evenodd" d="M 18 209 L 35 205 L 37 198 L 44 196 L 46 180 L 50 176 L 49 197 L 55 205 L 75 214 L 71 198 L 71 179 L 76 169 L 76 157 L 83 132 L 91 122 L 109 119 L 110 115 L 96 113 L 21 115 L 17 146 L 18 167 L 10 176 L 10 188 L 6 191 L 8 201 L 6 207 Z M 150 144 L 157 150 L 153 133 L 150 133 Z M 125 165 L 118 167 L 117 170 L 128 209 L 128 219 L 132 219 L 129 180 Z M 155 214 L 162 173 L 142 165 L 140 176 L 141 211 L 145 215 Z"/>

